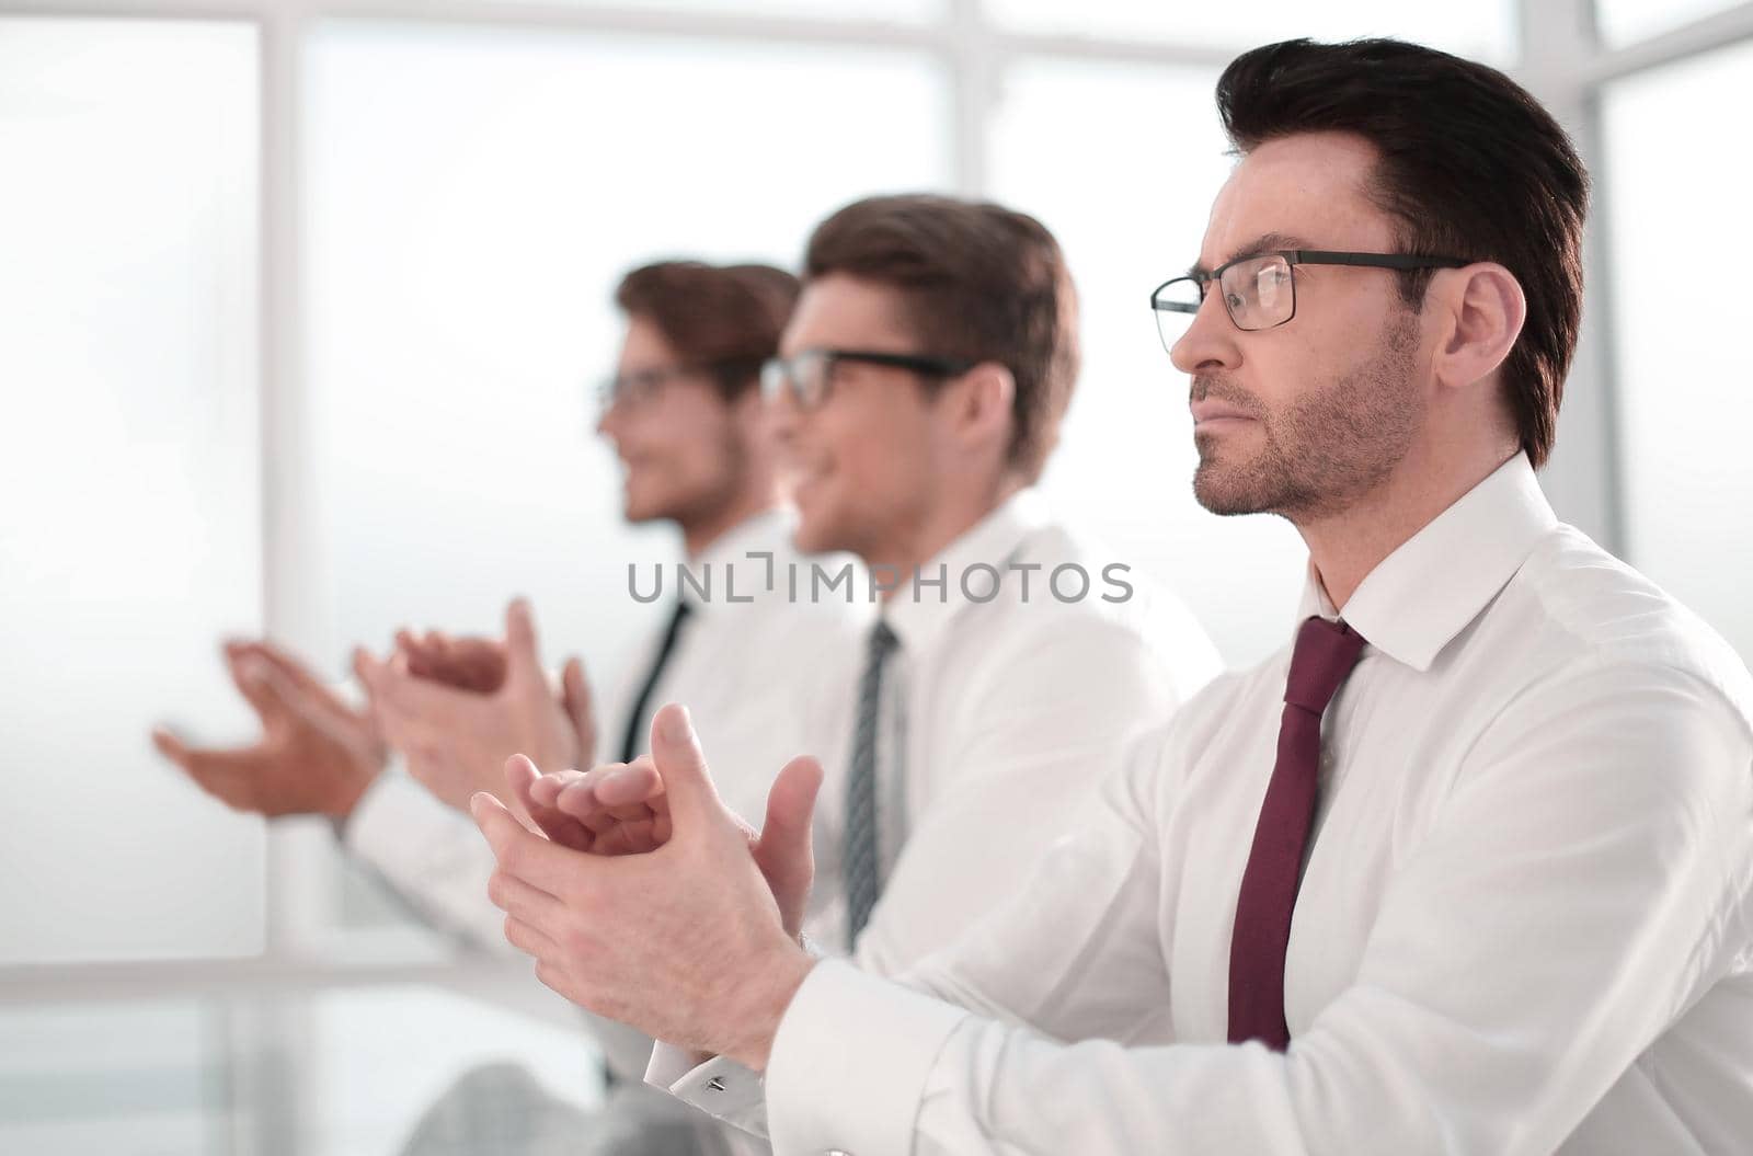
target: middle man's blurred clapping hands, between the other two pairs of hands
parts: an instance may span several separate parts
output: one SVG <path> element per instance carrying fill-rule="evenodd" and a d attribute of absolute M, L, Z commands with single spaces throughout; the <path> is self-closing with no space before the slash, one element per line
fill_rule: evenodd
<path fill-rule="evenodd" d="M 500 644 L 421 644 L 417 658 L 398 651 L 387 663 L 363 651 L 354 656 L 372 710 L 389 744 L 407 758 L 408 774 L 459 810 L 475 791 L 500 788 L 505 758 L 514 751 L 528 751 L 550 767 L 571 767 L 596 742 L 584 667 L 577 660 L 566 663 L 564 691 L 556 700 L 542 668 L 529 603 L 521 598 L 505 612 L 498 689 L 458 689 L 415 674 L 426 668 L 480 684 L 484 674 L 493 674 L 486 656 L 494 646 Z"/>

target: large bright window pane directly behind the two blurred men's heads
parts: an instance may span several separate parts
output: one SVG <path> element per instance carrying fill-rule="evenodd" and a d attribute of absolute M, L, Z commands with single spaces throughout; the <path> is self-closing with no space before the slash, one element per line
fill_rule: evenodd
<path fill-rule="evenodd" d="M 310 405 L 338 674 L 410 619 L 496 628 L 535 598 L 549 653 L 601 670 L 650 617 L 593 433 L 610 295 L 663 256 L 794 267 L 873 191 L 945 188 L 941 72 L 824 53 L 333 21 L 310 49 Z"/>

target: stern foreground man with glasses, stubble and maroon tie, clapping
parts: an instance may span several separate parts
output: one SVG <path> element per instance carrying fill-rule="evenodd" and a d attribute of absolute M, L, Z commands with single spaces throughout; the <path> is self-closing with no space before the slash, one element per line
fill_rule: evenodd
<path fill-rule="evenodd" d="M 808 847 L 749 854 L 677 705 L 647 854 L 477 796 L 508 938 L 719 1053 L 677 1088 L 780 1152 L 1746 1151 L 1753 679 L 1534 477 L 1581 161 L 1502 74 L 1394 40 L 1245 53 L 1218 109 L 1239 161 L 1153 305 L 1197 498 L 1308 542 L 1294 642 L 903 982 L 787 935 Z"/>

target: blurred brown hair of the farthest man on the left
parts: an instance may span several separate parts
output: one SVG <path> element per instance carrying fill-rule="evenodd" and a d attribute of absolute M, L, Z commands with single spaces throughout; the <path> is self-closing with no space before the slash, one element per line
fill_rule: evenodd
<path fill-rule="evenodd" d="M 798 303 L 798 279 L 771 265 L 657 261 L 621 279 L 615 305 L 645 318 L 689 365 L 715 370 L 726 398 L 752 389 Z"/>

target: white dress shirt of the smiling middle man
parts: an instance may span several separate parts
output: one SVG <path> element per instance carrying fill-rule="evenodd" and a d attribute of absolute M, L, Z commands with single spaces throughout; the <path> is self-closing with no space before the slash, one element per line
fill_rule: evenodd
<path fill-rule="evenodd" d="M 1129 596 L 1104 581 L 1115 561 L 1024 489 L 920 568 L 927 581 L 943 577 L 941 588 L 920 584 L 915 595 L 905 584 L 885 603 L 899 639 L 878 746 L 891 868 L 859 937 L 861 967 L 899 974 L 1015 895 L 1094 802 L 1132 735 L 1222 670 L 1210 639 L 1167 593 L 1131 574 Z M 990 600 L 978 567 L 1001 574 Z M 1090 575 L 1087 596 L 1055 596 L 1061 567 Z M 1066 598 L 1080 591 L 1075 572 L 1059 589 Z M 838 709 L 822 707 L 824 746 L 841 756 L 824 760 L 815 831 L 815 879 L 829 902 L 806 930 L 817 945 L 843 951 L 841 798 L 855 691 L 850 672 L 836 682 Z M 722 1060 L 696 1068 L 689 1053 L 666 1045 L 647 1079 L 740 1126 L 761 1098 L 745 1068 Z"/>

